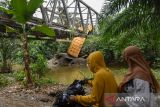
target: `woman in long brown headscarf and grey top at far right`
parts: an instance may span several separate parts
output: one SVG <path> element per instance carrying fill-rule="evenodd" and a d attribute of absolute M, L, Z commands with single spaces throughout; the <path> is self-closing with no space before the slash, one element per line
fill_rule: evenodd
<path fill-rule="evenodd" d="M 120 92 L 128 93 L 132 97 L 144 98 L 143 101 L 128 101 L 129 107 L 153 107 L 154 97 L 150 93 L 159 91 L 158 81 L 144 59 L 140 49 L 128 46 L 123 52 L 124 60 L 128 64 L 127 74 L 120 84 Z"/>

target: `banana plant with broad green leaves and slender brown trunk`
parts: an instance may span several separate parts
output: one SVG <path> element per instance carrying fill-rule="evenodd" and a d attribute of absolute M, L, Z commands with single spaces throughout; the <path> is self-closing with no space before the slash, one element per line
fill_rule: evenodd
<path fill-rule="evenodd" d="M 23 31 L 20 33 L 22 39 L 23 48 L 23 60 L 24 60 L 24 70 L 26 72 L 27 85 L 33 84 L 31 73 L 30 73 L 30 56 L 28 49 L 28 33 L 26 31 L 26 23 L 32 18 L 35 11 L 43 3 L 43 0 L 11 0 L 12 11 L 14 19 L 19 22 L 22 26 Z M 49 36 L 54 36 L 54 32 L 51 28 L 47 26 L 38 26 L 32 28 L 34 31 L 40 31 Z"/>

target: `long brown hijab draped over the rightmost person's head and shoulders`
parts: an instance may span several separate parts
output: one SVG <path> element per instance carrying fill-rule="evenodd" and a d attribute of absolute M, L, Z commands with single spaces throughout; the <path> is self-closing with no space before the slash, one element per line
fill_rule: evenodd
<path fill-rule="evenodd" d="M 128 63 L 128 72 L 124 76 L 122 83 L 120 84 L 120 90 L 123 90 L 123 86 L 130 80 L 138 78 L 148 81 L 154 90 L 159 91 L 159 84 L 155 76 L 151 72 L 151 69 L 144 59 L 140 49 L 136 46 L 129 46 L 124 49 L 123 58 Z"/>

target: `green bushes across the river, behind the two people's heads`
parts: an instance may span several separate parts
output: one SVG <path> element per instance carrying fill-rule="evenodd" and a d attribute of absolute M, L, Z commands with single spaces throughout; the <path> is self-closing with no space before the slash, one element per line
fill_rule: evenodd
<path fill-rule="evenodd" d="M 149 45 L 145 36 L 133 35 L 130 38 L 127 38 L 125 34 L 120 36 L 109 34 L 90 36 L 87 37 L 80 56 L 89 55 L 93 51 L 100 50 L 104 54 L 106 63 L 121 66 L 125 64 L 122 58 L 123 50 L 130 45 L 136 45 L 141 49 L 145 59 L 150 62 L 151 67 L 160 67 L 160 48 L 157 47 L 159 44 L 157 46 Z"/>

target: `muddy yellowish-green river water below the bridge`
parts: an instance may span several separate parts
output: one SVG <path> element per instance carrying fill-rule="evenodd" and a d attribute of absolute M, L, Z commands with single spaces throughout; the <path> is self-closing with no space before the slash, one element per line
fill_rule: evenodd
<path fill-rule="evenodd" d="M 113 71 L 116 81 L 119 84 L 124 76 L 126 69 L 124 68 L 111 68 Z M 84 77 L 93 77 L 92 72 L 90 72 L 86 67 L 59 67 L 46 74 L 46 77 L 52 78 L 58 83 L 70 84 L 75 79 L 84 79 Z"/>

